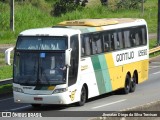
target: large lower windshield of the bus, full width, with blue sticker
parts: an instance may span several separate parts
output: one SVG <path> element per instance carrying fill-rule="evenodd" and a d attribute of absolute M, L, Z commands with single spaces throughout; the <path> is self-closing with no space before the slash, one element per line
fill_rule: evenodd
<path fill-rule="evenodd" d="M 16 52 L 14 82 L 26 85 L 66 82 L 64 53 Z"/>

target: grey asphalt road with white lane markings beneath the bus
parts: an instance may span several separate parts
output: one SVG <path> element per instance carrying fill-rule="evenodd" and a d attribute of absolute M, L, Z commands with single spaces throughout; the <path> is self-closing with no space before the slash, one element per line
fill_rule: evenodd
<path fill-rule="evenodd" d="M 86 114 L 96 114 L 95 111 L 121 111 L 143 104 L 160 100 L 160 57 L 151 60 L 149 66 L 149 79 L 137 85 L 136 91 L 128 95 L 112 92 L 100 97 L 90 99 L 84 106 L 75 105 L 56 106 L 46 105 L 41 109 L 33 109 L 29 104 L 16 104 L 13 96 L 0 98 L 0 111 L 10 112 L 41 112 L 43 116 L 84 116 Z M 67 111 L 82 111 L 67 112 Z M 83 112 L 93 111 L 93 112 Z M 78 115 L 76 115 L 78 114 Z M 90 115 L 89 115 L 90 116 Z M 92 115 L 91 115 L 92 116 Z M 77 118 L 76 118 L 77 119 Z M 79 118 L 82 119 L 82 118 Z M 90 118 L 84 118 L 90 119 Z"/>

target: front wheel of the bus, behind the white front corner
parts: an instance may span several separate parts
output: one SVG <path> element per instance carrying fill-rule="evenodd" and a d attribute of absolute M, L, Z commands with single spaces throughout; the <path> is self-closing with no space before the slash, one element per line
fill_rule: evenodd
<path fill-rule="evenodd" d="M 81 90 L 80 101 L 77 103 L 77 105 L 83 106 L 86 102 L 86 99 L 87 99 L 87 92 L 86 92 L 86 88 L 83 86 Z"/>

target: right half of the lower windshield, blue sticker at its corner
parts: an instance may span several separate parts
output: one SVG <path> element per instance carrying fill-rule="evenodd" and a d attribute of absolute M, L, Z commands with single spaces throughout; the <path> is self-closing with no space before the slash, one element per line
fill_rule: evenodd
<path fill-rule="evenodd" d="M 41 53 L 41 71 L 42 79 L 41 83 L 46 81 L 52 82 L 64 82 L 64 54 L 48 54 Z"/>

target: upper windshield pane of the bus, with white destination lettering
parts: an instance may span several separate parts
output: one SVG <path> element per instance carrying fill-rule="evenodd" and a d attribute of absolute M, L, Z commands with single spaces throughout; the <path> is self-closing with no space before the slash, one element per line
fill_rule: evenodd
<path fill-rule="evenodd" d="M 17 50 L 65 50 L 65 36 L 19 36 Z"/>

